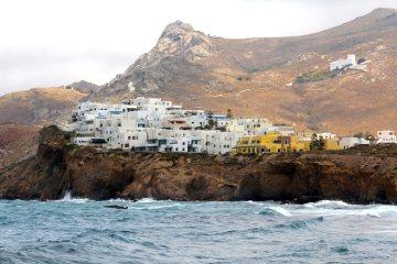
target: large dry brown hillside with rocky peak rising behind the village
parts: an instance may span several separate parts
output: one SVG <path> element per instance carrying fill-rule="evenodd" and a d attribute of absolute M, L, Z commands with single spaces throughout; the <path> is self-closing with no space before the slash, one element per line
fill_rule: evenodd
<path fill-rule="evenodd" d="M 350 53 L 369 61 L 368 70 L 294 82 L 300 75 L 325 73 L 330 62 Z M 93 98 L 155 96 L 343 134 L 397 130 L 396 62 L 397 11 L 391 9 L 293 37 L 228 40 L 176 21 Z"/>

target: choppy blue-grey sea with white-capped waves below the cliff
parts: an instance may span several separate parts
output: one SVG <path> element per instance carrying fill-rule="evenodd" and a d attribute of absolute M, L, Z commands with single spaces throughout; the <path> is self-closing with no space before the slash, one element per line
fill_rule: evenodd
<path fill-rule="evenodd" d="M 127 210 L 106 208 L 128 207 Z M 0 263 L 396 263 L 397 207 L 0 200 Z"/>

